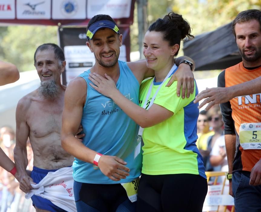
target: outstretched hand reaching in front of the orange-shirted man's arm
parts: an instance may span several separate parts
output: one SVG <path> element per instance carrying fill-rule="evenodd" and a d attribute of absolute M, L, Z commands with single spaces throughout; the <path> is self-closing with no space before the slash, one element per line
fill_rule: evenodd
<path fill-rule="evenodd" d="M 206 98 L 206 99 L 205 99 Z M 208 111 L 212 106 L 215 104 L 221 104 L 224 102 L 229 101 L 232 99 L 231 94 L 228 90 L 228 88 L 206 88 L 206 90 L 201 91 L 197 96 L 195 97 L 194 103 L 197 103 L 201 101 L 202 99 L 205 99 L 198 108 L 202 108 L 205 104 L 209 103 L 207 107 L 205 108 L 205 111 Z"/>

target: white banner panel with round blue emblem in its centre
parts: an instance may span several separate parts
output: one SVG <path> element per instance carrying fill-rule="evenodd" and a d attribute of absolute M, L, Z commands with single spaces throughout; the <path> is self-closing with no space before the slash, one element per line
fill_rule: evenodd
<path fill-rule="evenodd" d="M 85 19 L 86 1 L 55 0 L 52 1 L 53 19 Z"/>

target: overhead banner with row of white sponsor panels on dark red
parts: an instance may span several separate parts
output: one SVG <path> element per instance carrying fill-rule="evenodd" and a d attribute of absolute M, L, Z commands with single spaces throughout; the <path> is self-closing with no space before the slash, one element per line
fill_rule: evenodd
<path fill-rule="evenodd" d="M 0 23 L 86 26 L 94 15 L 108 14 L 119 26 L 127 26 L 133 23 L 134 4 L 135 0 L 0 0 Z"/>

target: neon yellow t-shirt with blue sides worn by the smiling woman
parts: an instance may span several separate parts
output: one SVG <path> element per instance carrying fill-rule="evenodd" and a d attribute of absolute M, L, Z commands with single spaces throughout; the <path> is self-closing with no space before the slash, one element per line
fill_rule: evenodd
<path fill-rule="evenodd" d="M 203 159 L 196 147 L 198 104 L 193 100 L 197 94 L 182 99 L 176 94 L 177 82 L 165 87 L 168 78 L 159 90 L 153 104 L 172 111 L 174 115 L 155 126 L 143 131 L 142 173 L 160 174 L 200 174 L 206 178 Z M 152 78 L 144 80 L 140 87 L 139 104 L 142 107 L 148 93 Z M 160 83 L 154 82 L 147 105 L 155 94 Z"/>

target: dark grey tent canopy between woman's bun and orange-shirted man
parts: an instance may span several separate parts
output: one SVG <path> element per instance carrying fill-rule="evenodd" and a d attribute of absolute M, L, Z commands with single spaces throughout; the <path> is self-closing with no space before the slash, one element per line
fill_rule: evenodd
<path fill-rule="evenodd" d="M 183 51 L 195 61 L 196 71 L 225 69 L 242 61 L 232 33 L 232 22 L 184 41 Z"/>

